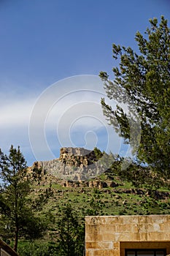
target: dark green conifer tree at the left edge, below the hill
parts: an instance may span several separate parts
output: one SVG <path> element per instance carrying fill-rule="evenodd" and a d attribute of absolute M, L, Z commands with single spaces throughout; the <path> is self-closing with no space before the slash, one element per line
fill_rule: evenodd
<path fill-rule="evenodd" d="M 11 146 L 7 156 L 0 151 L 0 214 L 1 236 L 4 239 L 14 238 L 14 249 L 17 252 L 19 236 L 36 238 L 44 226 L 31 210 L 29 182 L 25 178 L 26 160 L 17 149 Z"/>

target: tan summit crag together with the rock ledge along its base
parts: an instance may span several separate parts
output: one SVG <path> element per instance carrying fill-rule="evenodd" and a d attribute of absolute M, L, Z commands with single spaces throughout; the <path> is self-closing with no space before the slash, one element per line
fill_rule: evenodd
<path fill-rule="evenodd" d="M 101 151 L 99 153 L 98 157 L 95 150 L 64 147 L 61 148 L 59 158 L 34 162 L 31 167 L 28 167 L 26 176 L 31 178 L 35 185 L 40 186 L 52 187 L 58 184 L 61 187 L 97 189 L 122 186 L 124 180 L 107 170 L 105 163 L 109 159 L 108 155 Z M 148 176 L 147 179 L 149 181 Z M 146 181 L 144 182 L 146 186 Z"/>

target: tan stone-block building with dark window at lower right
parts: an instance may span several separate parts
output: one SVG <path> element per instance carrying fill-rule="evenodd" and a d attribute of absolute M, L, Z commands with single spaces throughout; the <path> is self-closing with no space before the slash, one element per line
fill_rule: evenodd
<path fill-rule="evenodd" d="M 85 228 L 85 256 L 170 254 L 170 215 L 86 217 Z"/>

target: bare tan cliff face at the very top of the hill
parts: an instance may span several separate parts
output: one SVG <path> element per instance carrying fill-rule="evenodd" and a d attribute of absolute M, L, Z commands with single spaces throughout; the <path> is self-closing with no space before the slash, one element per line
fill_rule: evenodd
<path fill-rule="evenodd" d="M 94 151 L 85 148 L 61 148 L 60 157 L 50 161 L 34 162 L 29 173 L 48 174 L 69 181 L 87 181 L 104 173 L 104 165 Z"/>

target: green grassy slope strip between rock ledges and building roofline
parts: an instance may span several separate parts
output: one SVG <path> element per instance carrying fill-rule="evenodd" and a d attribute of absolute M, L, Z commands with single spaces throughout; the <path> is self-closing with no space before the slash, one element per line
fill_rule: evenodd
<path fill-rule="evenodd" d="M 101 177 L 104 180 L 104 176 Z M 61 208 L 67 203 L 72 205 L 80 217 L 89 215 L 89 209 L 98 215 L 131 215 L 131 214 L 170 214 L 169 190 L 135 188 L 131 182 L 122 181 L 115 176 L 118 186 L 93 189 L 89 187 L 66 188 L 59 184 L 36 186 L 39 192 L 32 192 L 36 197 L 39 193 L 49 193 L 49 199 L 39 214 L 49 211 L 55 218 L 60 217 Z M 34 187 L 35 188 L 35 187 Z M 37 190 L 36 190 L 37 191 Z"/>

